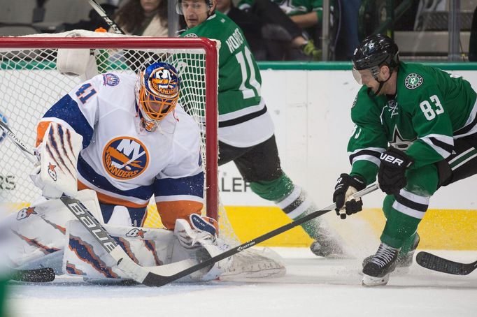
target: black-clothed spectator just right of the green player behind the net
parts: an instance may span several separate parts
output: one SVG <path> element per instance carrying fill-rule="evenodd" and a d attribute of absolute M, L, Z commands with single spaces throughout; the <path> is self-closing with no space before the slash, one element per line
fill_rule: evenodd
<path fill-rule="evenodd" d="M 280 7 L 270 0 L 255 0 L 248 10 L 239 10 L 232 0 L 217 0 L 217 10 L 230 17 L 243 30 L 255 59 L 292 59 L 301 52 L 302 59 L 321 60 L 321 50 L 307 40 L 301 29 Z"/>

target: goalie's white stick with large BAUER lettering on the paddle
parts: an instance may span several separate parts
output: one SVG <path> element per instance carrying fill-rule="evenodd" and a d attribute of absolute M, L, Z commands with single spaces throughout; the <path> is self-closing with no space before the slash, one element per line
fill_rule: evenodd
<path fill-rule="evenodd" d="M 22 153 L 29 158 L 30 161 L 38 164 L 38 156 L 35 155 L 32 149 L 29 149 L 15 133 L 13 133 L 8 126 L 0 120 L 0 128 L 5 131 L 10 140 L 22 150 Z M 76 198 L 69 198 L 62 196 L 59 198 L 71 213 L 83 223 L 83 226 L 91 233 L 91 235 L 97 239 L 99 244 L 117 261 L 118 268 L 122 270 L 127 276 L 138 283 L 143 283 L 147 286 L 157 286 L 154 281 L 161 279 L 161 275 L 172 275 L 178 271 L 185 270 L 194 264 L 192 260 L 183 260 L 168 265 L 161 265 L 157 267 L 141 267 L 136 264 L 127 253 L 121 248 L 121 246 L 109 235 L 109 233 L 101 226 L 99 221 L 91 214 L 91 212 Z"/>

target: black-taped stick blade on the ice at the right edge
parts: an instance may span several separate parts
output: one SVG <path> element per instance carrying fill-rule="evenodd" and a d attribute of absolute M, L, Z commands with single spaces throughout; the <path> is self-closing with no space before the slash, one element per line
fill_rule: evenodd
<path fill-rule="evenodd" d="M 441 258 L 440 256 L 434 256 L 434 254 L 425 251 L 420 251 L 418 255 L 415 256 L 415 261 L 420 266 L 429 270 L 455 275 L 467 275 L 477 268 L 477 261 L 472 263 L 459 263 Z"/>

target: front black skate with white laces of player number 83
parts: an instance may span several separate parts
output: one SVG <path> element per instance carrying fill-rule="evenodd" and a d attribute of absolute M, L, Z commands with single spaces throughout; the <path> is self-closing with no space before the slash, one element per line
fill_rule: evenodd
<path fill-rule="evenodd" d="M 381 243 L 371 261 L 363 267 L 363 286 L 386 285 L 391 272 L 396 268 L 398 253 L 399 249 Z"/>

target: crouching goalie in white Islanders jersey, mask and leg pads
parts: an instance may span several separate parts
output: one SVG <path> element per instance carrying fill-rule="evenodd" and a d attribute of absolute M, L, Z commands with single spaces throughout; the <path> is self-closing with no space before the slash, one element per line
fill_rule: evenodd
<path fill-rule="evenodd" d="M 76 198 L 141 266 L 192 265 L 226 251 L 218 223 L 201 216 L 204 172 L 197 123 L 178 104 L 180 76 L 155 62 L 138 72 L 99 74 L 45 112 L 37 127 L 42 197 L 8 217 L 11 267 L 53 267 L 90 280 L 131 279 L 59 198 Z M 165 229 L 144 228 L 154 200 Z M 278 260 L 238 254 L 184 280 L 283 274 Z"/>

